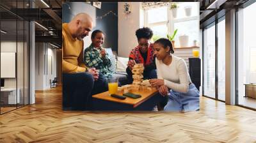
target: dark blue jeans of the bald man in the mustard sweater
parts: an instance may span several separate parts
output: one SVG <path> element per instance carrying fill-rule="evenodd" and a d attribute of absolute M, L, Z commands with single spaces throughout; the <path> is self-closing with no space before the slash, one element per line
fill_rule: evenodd
<path fill-rule="evenodd" d="M 108 81 L 99 73 L 93 80 L 90 73 L 63 73 L 63 110 L 91 110 L 92 95 L 108 91 Z"/>

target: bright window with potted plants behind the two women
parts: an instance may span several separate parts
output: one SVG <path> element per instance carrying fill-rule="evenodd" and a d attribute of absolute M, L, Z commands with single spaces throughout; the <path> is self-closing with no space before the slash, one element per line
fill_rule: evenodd
<path fill-rule="evenodd" d="M 189 36 L 188 46 L 199 41 L 199 3 L 177 3 L 177 15 L 167 6 L 158 6 L 145 10 L 145 26 L 150 27 L 154 35 L 166 38 L 178 29 L 174 38 L 175 47 L 180 47 L 179 36 Z M 189 10 L 188 10 L 189 9 Z M 186 12 L 187 11 L 187 12 Z M 159 16 L 161 15 L 161 16 Z"/>

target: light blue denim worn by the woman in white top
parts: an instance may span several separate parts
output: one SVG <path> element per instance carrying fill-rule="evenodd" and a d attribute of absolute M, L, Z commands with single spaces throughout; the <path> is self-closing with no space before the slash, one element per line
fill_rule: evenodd
<path fill-rule="evenodd" d="M 165 111 L 188 112 L 200 109 L 199 91 L 194 84 L 189 85 L 188 93 L 180 93 L 171 89 L 168 96 L 169 100 L 164 107 Z"/>

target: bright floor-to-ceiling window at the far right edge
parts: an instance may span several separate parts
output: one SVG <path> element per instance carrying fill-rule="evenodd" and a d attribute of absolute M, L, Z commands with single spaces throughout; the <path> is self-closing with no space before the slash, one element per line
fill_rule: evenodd
<path fill-rule="evenodd" d="M 239 105 L 253 109 L 256 109 L 256 21 L 252 18 L 255 13 L 256 3 L 237 11 L 237 100 Z"/>

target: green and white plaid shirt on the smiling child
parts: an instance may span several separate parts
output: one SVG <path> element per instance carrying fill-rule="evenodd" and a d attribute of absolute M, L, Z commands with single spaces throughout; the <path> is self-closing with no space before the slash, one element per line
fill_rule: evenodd
<path fill-rule="evenodd" d="M 100 50 L 93 47 L 92 44 L 84 50 L 84 64 L 89 68 L 96 68 L 96 70 L 99 70 L 104 77 L 111 77 L 113 74 L 113 72 L 109 70 L 111 62 L 108 53 L 102 57 Z"/>

